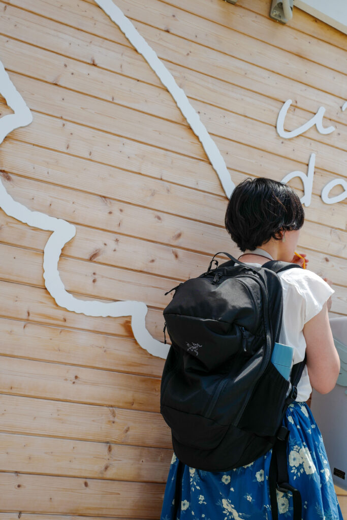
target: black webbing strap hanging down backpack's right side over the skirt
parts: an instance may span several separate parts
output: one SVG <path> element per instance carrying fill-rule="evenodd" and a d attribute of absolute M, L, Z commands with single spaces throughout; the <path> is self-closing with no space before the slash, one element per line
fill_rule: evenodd
<path fill-rule="evenodd" d="M 293 387 L 289 396 L 286 399 L 286 409 L 295 400 L 298 395 L 297 385 L 300 381 L 302 371 L 306 363 L 306 354 L 304 360 L 301 363 L 296 363 L 293 366 L 291 380 Z M 284 413 L 285 413 L 284 411 Z M 278 505 L 277 505 L 277 493 L 276 489 L 282 493 L 288 491 L 292 492 L 293 495 L 293 520 L 301 520 L 302 514 L 302 502 L 301 495 L 298 489 L 295 489 L 288 483 L 288 462 L 287 462 L 287 445 L 288 445 L 289 430 L 285 426 L 280 426 L 277 432 L 277 439 L 272 448 L 271 463 L 269 469 L 269 491 L 270 491 L 270 502 L 271 512 L 273 520 L 278 520 Z"/>

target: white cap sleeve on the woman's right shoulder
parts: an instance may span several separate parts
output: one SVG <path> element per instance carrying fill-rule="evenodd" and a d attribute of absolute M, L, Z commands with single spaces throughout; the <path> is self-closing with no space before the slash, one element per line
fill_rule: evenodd
<path fill-rule="evenodd" d="M 309 269 L 289 269 L 284 271 L 283 275 L 298 293 L 302 307 L 303 324 L 316 316 L 322 310 L 329 296 L 335 293 L 323 278 Z"/>

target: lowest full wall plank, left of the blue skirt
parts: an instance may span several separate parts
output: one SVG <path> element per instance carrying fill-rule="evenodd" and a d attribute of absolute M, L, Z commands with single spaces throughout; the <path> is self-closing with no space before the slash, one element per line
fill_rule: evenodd
<path fill-rule="evenodd" d="M 37 513 L 158 518 L 164 485 L 117 480 L 0 473 L 0 508 Z M 33 502 L 33 497 L 35 500 Z"/>

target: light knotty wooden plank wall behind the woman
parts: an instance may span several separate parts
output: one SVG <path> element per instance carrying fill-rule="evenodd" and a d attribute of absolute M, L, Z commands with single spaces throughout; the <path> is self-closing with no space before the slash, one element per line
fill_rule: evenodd
<path fill-rule="evenodd" d="M 184 88 L 236 184 L 306 172 L 316 153 L 298 250 L 333 281 L 330 316 L 346 315 L 346 201 L 320 199 L 346 178 L 346 36 L 296 8 L 282 26 L 263 0 L 116 4 Z M 33 113 L 1 145 L 2 182 L 31 210 L 76 226 L 59 261 L 69 292 L 146 302 L 163 341 L 164 292 L 216 251 L 239 254 L 219 179 L 170 94 L 92 0 L 9 0 L 0 12 L 0 59 Z M 324 106 L 337 131 L 280 139 L 288 98 L 288 129 Z M 10 112 L 4 100 L 0 112 Z M 289 184 L 302 195 L 300 179 Z M 0 211 L 1 519 L 158 519 L 172 454 L 163 360 L 136 344 L 127 317 L 57 306 L 43 280 L 48 237 Z M 346 500 L 341 491 L 344 511 Z"/>

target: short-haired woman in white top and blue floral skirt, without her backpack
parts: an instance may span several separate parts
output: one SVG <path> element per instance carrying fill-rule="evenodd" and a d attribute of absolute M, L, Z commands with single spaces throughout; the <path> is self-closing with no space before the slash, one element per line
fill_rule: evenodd
<path fill-rule="evenodd" d="M 247 178 L 230 197 L 225 227 L 243 254 L 245 264 L 261 266 L 269 259 L 309 263 L 294 254 L 304 211 L 298 195 L 286 184 L 268 178 Z M 308 269 L 278 274 L 283 292 L 279 343 L 294 347 L 293 363 L 307 355 L 296 400 L 283 424 L 289 429 L 289 484 L 299 489 L 303 520 L 343 520 L 333 487 L 322 435 L 306 402 L 312 387 L 325 394 L 335 386 L 340 360 L 333 343 L 328 310 L 335 291 Z M 247 466 L 225 472 L 201 471 L 184 465 L 178 517 L 196 520 L 271 520 L 268 473 L 272 450 Z M 173 455 L 161 520 L 173 518 L 178 460 Z M 279 520 L 292 518 L 291 493 L 277 491 Z"/>

